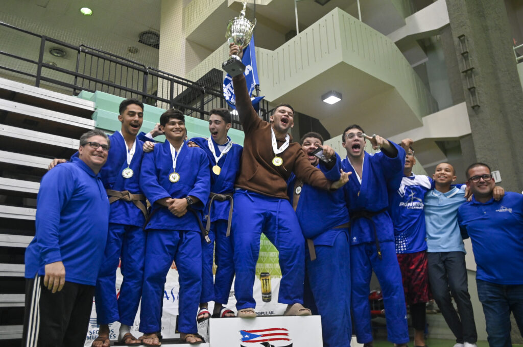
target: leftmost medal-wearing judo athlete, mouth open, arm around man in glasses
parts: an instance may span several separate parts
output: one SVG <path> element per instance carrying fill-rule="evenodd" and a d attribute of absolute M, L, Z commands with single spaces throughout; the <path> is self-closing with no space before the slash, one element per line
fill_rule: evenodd
<path fill-rule="evenodd" d="M 100 329 L 93 347 L 108 347 L 110 338 L 116 338 L 116 334 L 109 329 L 109 324 L 115 321 L 120 322 L 119 342 L 140 343 L 130 332 L 142 293 L 143 225 L 147 217 L 145 195 L 139 186 L 143 142 L 138 137 L 151 139 L 162 132 L 156 126 L 148 135 L 139 135 L 143 123 L 143 103 L 138 99 L 123 100 L 118 111 L 120 131 L 109 136 L 112 147 L 107 164 L 100 170 L 100 178 L 109 197 L 110 215 L 104 265 L 96 284 L 96 316 Z M 62 162 L 65 160 L 55 159 L 49 167 L 51 169 Z M 120 259 L 123 280 L 117 298 L 116 271 Z"/>

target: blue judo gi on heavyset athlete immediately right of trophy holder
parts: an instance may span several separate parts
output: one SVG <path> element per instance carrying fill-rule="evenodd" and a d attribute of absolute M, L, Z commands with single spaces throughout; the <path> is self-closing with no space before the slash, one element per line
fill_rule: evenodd
<path fill-rule="evenodd" d="M 326 171 L 323 164 L 317 167 L 331 181 L 339 180 L 341 159 Z M 349 212 L 345 190 L 335 192 L 314 188 L 291 175 L 288 184 L 290 202 L 296 206 L 296 215 L 305 238 L 314 243 L 316 259 L 311 260 L 305 249 L 304 304 L 314 315 L 322 317 L 323 345 L 349 347 L 352 338 L 350 317 L 350 263 L 349 263 Z M 301 192 L 298 188 L 301 186 Z M 298 190 L 297 190 L 298 189 Z M 296 194 L 300 192 L 299 194 Z M 298 197 L 298 204 L 294 198 Z M 336 228 L 343 226 L 343 228 Z"/>

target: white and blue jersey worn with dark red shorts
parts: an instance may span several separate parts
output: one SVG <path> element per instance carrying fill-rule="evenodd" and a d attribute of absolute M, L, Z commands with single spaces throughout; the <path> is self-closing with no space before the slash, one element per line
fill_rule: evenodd
<path fill-rule="evenodd" d="M 400 189 L 390 195 L 389 211 L 394 224 L 396 253 L 415 253 L 427 249 L 424 200 L 434 188 L 425 175 L 404 176 Z"/>

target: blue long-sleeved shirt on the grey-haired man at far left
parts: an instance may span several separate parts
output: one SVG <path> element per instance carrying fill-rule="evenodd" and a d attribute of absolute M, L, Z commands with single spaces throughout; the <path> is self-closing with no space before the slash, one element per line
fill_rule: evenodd
<path fill-rule="evenodd" d="M 100 175 L 72 158 L 42 177 L 36 234 L 26 249 L 25 277 L 62 261 L 65 281 L 95 285 L 109 228 L 109 199 Z"/>

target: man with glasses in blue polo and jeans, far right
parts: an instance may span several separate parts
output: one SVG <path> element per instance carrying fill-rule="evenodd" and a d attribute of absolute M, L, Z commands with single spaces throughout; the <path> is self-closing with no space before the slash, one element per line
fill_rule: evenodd
<path fill-rule="evenodd" d="M 523 195 L 506 192 L 496 201 L 487 164 L 470 165 L 466 175 L 472 199 L 459 207 L 458 222 L 472 241 L 488 344 L 508 347 L 510 312 L 523 336 Z"/>

